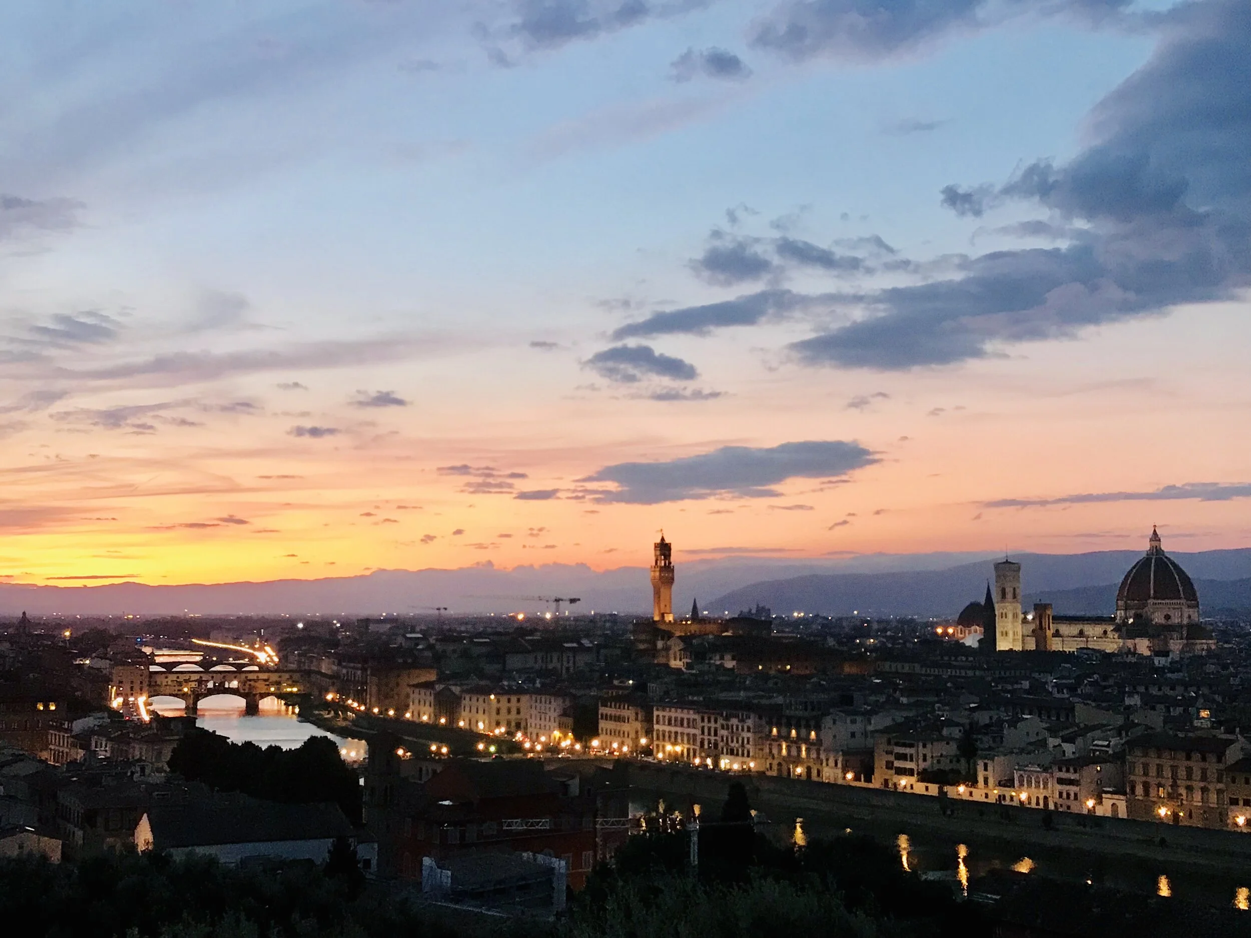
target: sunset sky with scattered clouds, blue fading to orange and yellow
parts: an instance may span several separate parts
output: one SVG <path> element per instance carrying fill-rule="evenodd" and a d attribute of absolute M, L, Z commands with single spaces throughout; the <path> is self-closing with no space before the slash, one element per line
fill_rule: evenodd
<path fill-rule="evenodd" d="M 0 575 L 1251 544 L 1245 0 L 11 0 Z"/>

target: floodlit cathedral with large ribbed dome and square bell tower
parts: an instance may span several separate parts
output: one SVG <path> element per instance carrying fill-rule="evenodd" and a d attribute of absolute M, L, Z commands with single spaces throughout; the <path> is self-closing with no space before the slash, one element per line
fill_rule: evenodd
<path fill-rule="evenodd" d="M 975 607 L 977 607 L 975 609 Z M 1100 652 L 1132 654 L 1206 654 L 1216 647 L 1211 629 L 1198 622 L 1195 584 L 1163 552 L 1151 532 L 1147 553 L 1128 569 L 1116 592 L 1116 614 L 1055 615 L 1051 603 L 1021 608 L 1021 564 L 995 564 L 995 589 L 982 603 L 970 603 L 961 620 L 980 620 L 982 642 L 992 652 Z"/>

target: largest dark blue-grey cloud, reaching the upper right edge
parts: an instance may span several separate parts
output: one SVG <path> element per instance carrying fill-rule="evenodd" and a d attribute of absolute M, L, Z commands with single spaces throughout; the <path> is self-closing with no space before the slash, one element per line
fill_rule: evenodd
<path fill-rule="evenodd" d="M 1251 6 L 1198 0 L 1158 20 L 1151 58 L 1090 115 L 1091 143 L 1003 185 L 943 198 L 967 215 L 1018 200 L 1085 229 L 1055 248 L 960 259 L 957 276 L 848 298 L 863 316 L 792 346 L 802 361 L 909 369 L 1232 299 L 1251 285 Z"/>

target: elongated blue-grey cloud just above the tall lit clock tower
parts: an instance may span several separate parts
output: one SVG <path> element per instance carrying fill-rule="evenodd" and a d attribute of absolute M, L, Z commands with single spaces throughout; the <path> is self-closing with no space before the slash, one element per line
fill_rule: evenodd
<path fill-rule="evenodd" d="M 772 487 L 787 479 L 846 475 L 876 461 L 877 456 L 858 443 L 807 440 L 767 449 L 722 446 L 663 463 L 618 463 L 579 482 L 613 483 L 617 489 L 598 493 L 595 500 L 626 504 L 719 495 L 774 498 L 781 493 Z"/>

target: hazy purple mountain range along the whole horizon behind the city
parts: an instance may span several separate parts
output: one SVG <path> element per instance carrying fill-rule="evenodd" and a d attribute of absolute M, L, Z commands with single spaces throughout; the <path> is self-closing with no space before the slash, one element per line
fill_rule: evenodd
<path fill-rule="evenodd" d="M 1012 554 L 1022 567 L 1026 602 L 1051 602 L 1057 613 L 1110 614 L 1116 585 L 1138 550 L 1087 554 Z M 873 615 L 953 615 L 981 599 L 993 575 L 986 554 L 873 554 L 829 560 L 761 557 L 682 559 L 677 564 L 674 609 L 692 598 L 701 608 L 736 613 L 757 603 L 776 613 Z M 1205 609 L 1251 609 L 1251 549 L 1175 553 L 1191 574 Z M 575 612 L 651 613 L 652 588 L 644 567 L 595 572 L 582 564 L 497 569 L 489 564 L 457 570 L 378 570 L 362 577 L 146 585 L 84 587 L 0 584 L 0 615 L 281 614 L 434 615 L 455 613 L 543 613 L 542 597 L 580 597 Z M 707 599 L 714 597 L 713 599 Z M 565 609 L 568 609 L 565 604 Z"/>

